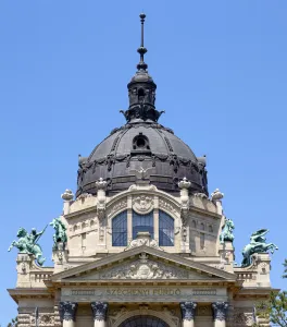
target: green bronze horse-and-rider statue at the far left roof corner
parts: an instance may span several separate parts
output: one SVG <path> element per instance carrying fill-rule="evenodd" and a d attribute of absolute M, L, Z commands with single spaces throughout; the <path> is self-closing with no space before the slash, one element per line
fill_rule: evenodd
<path fill-rule="evenodd" d="M 47 228 L 47 226 L 46 226 Z M 46 258 L 42 257 L 42 250 L 37 242 L 39 241 L 40 237 L 45 232 L 46 228 L 38 232 L 35 228 L 32 229 L 30 233 L 26 231 L 25 228 L 21 227 L 17 232 L 17 241 L 13 241 L 8 251 L 10 252 L 14 246 L 18 249 L 18 253 L 26 253 L 32 254 L 35 256 L 37 263 L 42 266 Z"/>

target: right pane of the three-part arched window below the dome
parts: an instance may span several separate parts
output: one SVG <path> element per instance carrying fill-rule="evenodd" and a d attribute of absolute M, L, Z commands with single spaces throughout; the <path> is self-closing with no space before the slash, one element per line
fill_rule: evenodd
<path fill-rule="evenodd" d="M 159 245 L 173 246 L 174 245 L 174 219 L 166 213 L 159 210 Z"/>

